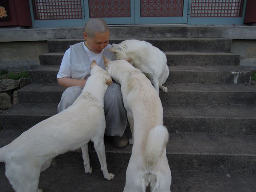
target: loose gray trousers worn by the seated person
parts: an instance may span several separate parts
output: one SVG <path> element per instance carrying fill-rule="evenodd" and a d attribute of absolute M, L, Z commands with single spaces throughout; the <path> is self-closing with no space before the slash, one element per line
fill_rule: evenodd
<path fill-rule="evenodd" d="M 83 88 L 80 86 L 67 88 L 58 104 L 58 113 L 72 105 L 82 90 Z M 106 119 L 105 134 L 108 136 L 122 136 L 127 126 L 127 117 L 120 84 L 112 83 L 108 86 L 104 96 L 104 112 Z"/>

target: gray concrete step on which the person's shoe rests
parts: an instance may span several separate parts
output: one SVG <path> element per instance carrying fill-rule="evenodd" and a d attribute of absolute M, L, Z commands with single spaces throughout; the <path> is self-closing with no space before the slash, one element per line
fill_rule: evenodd
<path fill-rule="evenodd" d="M 5 139 L 1 139 L 0 147 L 9 144 L 21 133 L 22 131 L 1 130 L 0 138 Z M 169 135 L 166 154 L 248 156 L 256 159 L 256 135 L 187 132 L 169 133 Z M 106 153 L 119 154 L 132 151 L 132 145 L 117 148 L 108 138 L 105 139 L 105 148 Z"/>

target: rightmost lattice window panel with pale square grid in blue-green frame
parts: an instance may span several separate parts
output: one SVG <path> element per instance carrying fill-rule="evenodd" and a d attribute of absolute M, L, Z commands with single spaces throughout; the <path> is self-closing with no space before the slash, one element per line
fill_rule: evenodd
<path fill-rule="evenodd" d="M 244 0 L 192 0 L 191 17 L 242 17 Z"/>

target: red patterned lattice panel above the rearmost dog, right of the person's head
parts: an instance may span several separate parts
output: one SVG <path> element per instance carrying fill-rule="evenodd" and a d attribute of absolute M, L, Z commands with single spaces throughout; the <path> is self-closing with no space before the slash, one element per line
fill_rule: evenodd
<path fill-rule="evenodd" d="M 141 0 L 141 17 L 182 17 L 183 0 Z"/>

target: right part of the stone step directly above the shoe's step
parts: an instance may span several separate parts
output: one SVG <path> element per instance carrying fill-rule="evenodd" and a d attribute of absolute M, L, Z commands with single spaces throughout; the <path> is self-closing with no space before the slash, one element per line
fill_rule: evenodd
<path fill-rule="evenodd" d="M 256 106 L 163 105 L 169 132 L 208 132 L 256 135 Z"/>

